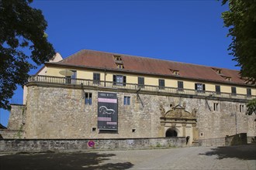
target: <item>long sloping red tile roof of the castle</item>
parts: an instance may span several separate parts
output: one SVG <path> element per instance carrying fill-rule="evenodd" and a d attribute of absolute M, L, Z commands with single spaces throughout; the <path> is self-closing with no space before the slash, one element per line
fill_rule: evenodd
<path fill-rule="evenodd" d="M 174 61 L 152 59 L 141 56 L 129 56 L 118 53 L 106 53 L 94 50 L 83 49 L 78 53 L 61 60 L 60 64 L 74 66 L 99 67 L 102 69 L 118 70 L 113 56 L 121 56 L 124 71 L 137 73 L 150 73 L 164 76 L 175 76 L 171 70 L 178 70 L 179 77 L 196 80 L 211 80 L 217 82 L 228 82 L 223 76 L 230 77 L 230 83 L 245 84 L 240 79 L 238 70 L 228 70 L 211 66 L 201 66 L 190 63 L 179 63 Z M 214 70 L 215 69 L 215 70 Z M 216 73 L 221 70 L 221 74 Z M 222 76 L 221 76 L 222 75 Z"/>

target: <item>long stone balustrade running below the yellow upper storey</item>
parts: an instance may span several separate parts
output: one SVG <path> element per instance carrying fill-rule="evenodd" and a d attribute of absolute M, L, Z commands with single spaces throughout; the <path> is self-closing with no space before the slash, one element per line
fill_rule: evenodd
<path fill-rule="evenodd" d="M 112 88 L 120 90 L 135 90 L 144 92 L 157 92 L 157 93 L 172 93 L 178 95 L 193 95 L 199 97 L 223 97 L 230 99 L 242 99 L 251 100 L 255 96 L 247 96 L 244 94 L 233 93 L 216 93 L 214 91 L 206 90 L 191 90 L 191 89 L 179 89 L 174 87 L 159 87 L 151 85 L 140 85 L 136 83 L 117 83 L 112 81 L 99 81 L 99 80 L 85 80 L 85 79 L 73 79 L 60 76 L 30 76 L 28 83 L 47 83 L 47 84 L 62 84 L 67 86 L 80 86 L 80 87 L 102 87 Z"/>

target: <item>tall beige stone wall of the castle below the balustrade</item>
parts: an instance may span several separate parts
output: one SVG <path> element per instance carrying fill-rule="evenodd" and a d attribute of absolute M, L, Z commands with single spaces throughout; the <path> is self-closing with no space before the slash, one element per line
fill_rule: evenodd
<path fill-rule="evenodd" d="M 85 105 L 85 92 L 92 93 L 92 105 Z M 98 92 L 117 93 L 118 131 L 99 131 L 97 128 Z M 130 105 L 123 105 L 123 97 L 129 96 Z M 219 100 L 192 96 L 170 96 L 162 93 L 137 93 L 129 90 L 84 89 L 81 87 L 29 86 L 26 104 L 25 138 L 158 138 L 164 137 L 168 128 L 179 129 L 184 124 L 165 124 L 161 128 L 162 106 L 165 112 L 170 106 L 181 105 L 192 112 L 196 109 L 197 134 L 189 130 L 178 136 L 190 135 L 199 139 L 223 138 L 226 135 L 247 133 L 255 136 L 255 115 L 240 112 L 240 100 Z M 218 103 L 220 110 L 213 110 Z M 13 112 L 12 112 L 13 113 Z M 11 114 L 12 114 L 11 113 Z M 12 121 L 12 119 L 10 120 Z M 193 138 L 191 138 L 193 140 Z"/>

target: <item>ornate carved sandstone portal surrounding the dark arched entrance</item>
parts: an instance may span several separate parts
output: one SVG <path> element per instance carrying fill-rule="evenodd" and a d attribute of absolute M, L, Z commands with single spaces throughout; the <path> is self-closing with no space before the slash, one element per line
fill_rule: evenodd
<path fill-rule="evenodd" d="M 196 128 L 196 110 L 191 113 L 185 110 L 185 107 L 177 105 L 171 107 L 171 110 L 165 112 L 164 107 L 161 110 L 161 137 L 190 137 L 189 143 L 198 138 L 198 128 Z"/>

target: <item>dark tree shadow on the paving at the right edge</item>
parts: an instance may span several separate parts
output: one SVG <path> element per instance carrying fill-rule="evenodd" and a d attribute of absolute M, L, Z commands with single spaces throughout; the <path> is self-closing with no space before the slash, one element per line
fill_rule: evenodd
<path fill-rule="evenodd" d="M 217 159 L 239 158 L 242 160 L 256 160 L 256 145 L 236 145 L 227 147 L 212 148 L 212 151 L 199 155 L 217 155 Z"/>

